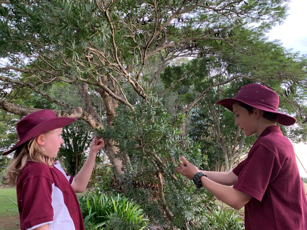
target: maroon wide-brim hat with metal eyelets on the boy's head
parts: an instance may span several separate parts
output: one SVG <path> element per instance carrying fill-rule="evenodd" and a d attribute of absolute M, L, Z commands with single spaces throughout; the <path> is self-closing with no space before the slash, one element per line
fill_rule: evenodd
<path fill-rule="evenodd" d="M 276 92 L 260 84 L 249 84 L 243 86 L 235 98 L 226 98 L 216 102 L 216 105 L 223 105 L 233 112 L 234 103 L 245 103 L 257 109 L 277 114 L 277 123 L 281 125 L 293 125 L 296 122 L 294 117 L 277 111 L 279 97 Z"/>

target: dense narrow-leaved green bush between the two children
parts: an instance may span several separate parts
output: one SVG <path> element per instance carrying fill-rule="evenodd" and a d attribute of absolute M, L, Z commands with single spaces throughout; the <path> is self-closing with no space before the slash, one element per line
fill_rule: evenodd
<path fill-rule="evenodd" d="M 213 197 L 174 171 L 180 156 L 197 166 L 206 165 L 199 146 L 181 136 L 183 119 L 182 115 L 170 116 L 161 101 L 151 98 L 150 103 L 136 105 L 135 111 L 119 109 L 113 128 L 105 128 L 99 135 L 114 140 L 119 150 L 129 155 L 134 167 L 126 168 L 124 191 L 142 205 L 151 221 L 201 229 L 206 223 L 206 207 L 214 206 Z"/>

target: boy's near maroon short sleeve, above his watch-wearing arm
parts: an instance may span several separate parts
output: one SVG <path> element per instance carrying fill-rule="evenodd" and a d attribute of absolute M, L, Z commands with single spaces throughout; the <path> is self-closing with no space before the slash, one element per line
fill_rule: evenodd
<path fill-rule="evenodd" d="M 261 201 L 271 178 L 278 173 L 273 168 L 280 169 L 275 155 L 259 144 L 245 160 L 233 188 Z"/>

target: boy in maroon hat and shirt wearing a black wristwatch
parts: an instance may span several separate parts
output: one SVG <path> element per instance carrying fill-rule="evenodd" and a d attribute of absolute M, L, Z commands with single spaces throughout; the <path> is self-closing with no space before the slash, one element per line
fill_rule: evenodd
<path fill-rule="evenodd" d="M 293 125 L 296 119 L 277 112 L 278 95 L 259 84 L 243 86 L 235 98 L 216 104 L 234 113 L 246 136 L 257 134 L 247 158 L 231 172 L 211 172 L 181 157 L 176 171 L 231 207 L 244 206 L 246 230 L 307 229 L 307 199 L 294 149 L 276 125 Z"/>

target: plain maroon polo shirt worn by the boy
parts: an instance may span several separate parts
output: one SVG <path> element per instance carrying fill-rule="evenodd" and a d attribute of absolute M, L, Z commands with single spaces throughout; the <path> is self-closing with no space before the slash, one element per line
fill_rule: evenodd
<path fill-rule="evenodd" d="M 233 172 L 236 190 L 252 196 L 246 230 L 306 230 L 307 199 L 293 145 L 279 126 L 266 128 Z"/>

